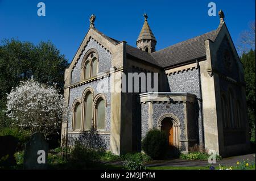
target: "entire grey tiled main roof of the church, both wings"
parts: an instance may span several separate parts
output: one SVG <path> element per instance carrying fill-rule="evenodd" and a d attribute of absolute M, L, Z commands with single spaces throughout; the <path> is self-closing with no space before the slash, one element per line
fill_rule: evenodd
<path fill-rule="evenodd" d="M 113 44 L 118 44 L 120 42 L 109 36 L 104 35 L 104 33 L 98 30 L 96 31 Z M 209 39 L 214 41 L 217 33 L 217 30 L 210 31 L 203 35 L 193 37 L 189 40 L 181 41 L 180 43 L 171 45 L 170 47 L 158 50 L 153 53 L 147 53 L 138 48 L 126 45 L 126 54 L 128 56 L 137 58 L 150 64 L 162 68 L 168 68 L 170 66 L 184 64 L 199 58 L 206 57 L 205 40 Z"/>

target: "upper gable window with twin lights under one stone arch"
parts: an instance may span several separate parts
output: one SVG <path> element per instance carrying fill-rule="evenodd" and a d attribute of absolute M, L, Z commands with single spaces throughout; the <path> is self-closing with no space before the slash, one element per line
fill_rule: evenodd
<path fill-rule="evenodd" d="M 82 59 L 81 79 L 86 80 L 91 77 L 96 77 L 98 73 L 98 52 L 96 49 L 89 49 Z"/>

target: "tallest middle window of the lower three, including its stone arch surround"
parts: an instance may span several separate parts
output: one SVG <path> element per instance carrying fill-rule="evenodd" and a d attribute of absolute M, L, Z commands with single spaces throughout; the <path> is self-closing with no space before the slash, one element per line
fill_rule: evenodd
<path fill-rule="evenodd" d="M 82 94 L 82 125 L 84 125 L 85 131 L 91 130 L 93 125 L 93 97 L 93 89 L 86 88 Z"/>

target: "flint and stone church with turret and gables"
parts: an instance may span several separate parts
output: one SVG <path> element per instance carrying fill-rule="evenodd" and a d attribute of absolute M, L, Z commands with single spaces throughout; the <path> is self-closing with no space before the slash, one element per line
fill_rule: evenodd
<path fill-rule="evenodd" d="M 146 14 L 137 47 L 98 31 L 92 15 L 65 70 L 69 115 L 62 124 L 61 141 L 71 145 L 83 139 L 119 155 L 141 151 L 143 137 L 156 128 L 166 132 L 170 146 L 181 153 L 198 148 L 226 157 L 247 151 L 243 65 L 224 12 L 218 14 L 216 30 L 160 50 Z M 157 91 L 143 90 L 142 77 L 139 86 L 123 81 L 122 75 L 130 73 L 143 73 L 146 79 L 157 75 Z M 122 91 L 126 86 L 139 91 Z"/>

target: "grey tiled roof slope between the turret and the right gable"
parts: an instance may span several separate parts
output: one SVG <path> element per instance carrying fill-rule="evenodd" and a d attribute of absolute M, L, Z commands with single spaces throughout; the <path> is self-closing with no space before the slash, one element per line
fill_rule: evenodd
<path fill-rule="evenodd" d="M 205 40 L 216 38 L 216 30 L 182 41 L 170 47 L 151 53 L 152 57 L 163 67 L 183 64 L 197 58 L 206 57 Z"/>

